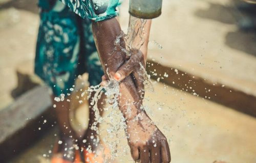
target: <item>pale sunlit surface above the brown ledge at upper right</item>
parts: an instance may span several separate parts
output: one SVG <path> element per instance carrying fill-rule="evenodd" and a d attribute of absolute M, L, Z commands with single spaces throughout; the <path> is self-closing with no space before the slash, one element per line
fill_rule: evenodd
<path fill-rule="evenodd" d="M 149 56 L 165 66 L 256 96 L 256 35 L 237 28 L 234 1 L 164 1 Z M 161 32 L 159 32 L 161 31 Z"/>

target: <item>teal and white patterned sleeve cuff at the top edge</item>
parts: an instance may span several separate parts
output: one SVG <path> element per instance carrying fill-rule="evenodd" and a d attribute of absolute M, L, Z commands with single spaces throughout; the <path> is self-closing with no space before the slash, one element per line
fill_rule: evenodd
<path fill-rule="evenodd" d="M 101 21 L 118 15 L 118 0 L 59 0 L 82 18 Z"/>

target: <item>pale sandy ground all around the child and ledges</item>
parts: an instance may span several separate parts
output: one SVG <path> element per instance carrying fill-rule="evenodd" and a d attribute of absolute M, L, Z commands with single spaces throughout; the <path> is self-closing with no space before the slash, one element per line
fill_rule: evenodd
<path fill-rule="evenodd" d="M 120 14 L 124 31 L 127 4 L 125 1 Z M 150 58 L 256 94 L 256 35 L 238 30 L 237 22 L 243 15 L 234 1 L 163 1 L 162 12 L 153 20 Z M 0 109 L 13 101 L 16 67 L 22 62 L 33 63 L 38 22 L 35 0 L 0 0 Z M 169 140 L 172 162 L 256 162 L 254 118 L 163 84 L 157 84 L 156 90 L 147 94 L 151 100 L 146 103 Z M 160 110 L 159 104 L 163 104 Z M 56 132 L 53 129 L 11 162 L 49 161 Z M 118 162 L 131 162 L 130 153 L 120 155 Z"/>

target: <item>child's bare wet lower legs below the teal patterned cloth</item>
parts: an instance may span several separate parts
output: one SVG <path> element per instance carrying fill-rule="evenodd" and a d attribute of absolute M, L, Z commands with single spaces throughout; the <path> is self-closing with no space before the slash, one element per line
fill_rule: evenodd
<path fill-rule="evenodd" d="M 89 103 L 91 103 L 92 97 L 94 97 L 93 94 L 89 99 Z M 52 96 L 52 103 L 56 104 L 55 112 L 59 126 L 59 139 L 57 142 L 62 142 L 61 144 L 57 145 L 57 150 L 55 151 L 54 155 L 73 162 L 75 158 L 75 146 L 82 147 L 83 149 L 90 147 L 92 151 L 103 151 L 103 149 L 100 142 L 94 142 L 93 139 L 90 138 L 91 135 L 93 135 L 93 137 L 96 139 L 99 138 L 98 133 L 91 129 L 92 124 L 95 122 L 95 112 L 92 109 L 93 106 L 89 105 L 90 120 L 88 129 L 82 133 L 76 133 L 70 123 L 70 102 L 67 101 L 67 99 L 72 100 L 71 98 L 66 98 L 64 101 L 56 102 L 54 100 L 54 96 Z M 97 103 L 100 115 L 103 114 L 103 106 L 105 104 L 104 99 L 105 97 L 102 95 Z M 87 141 L 83 143 L 83 140 Z"/>

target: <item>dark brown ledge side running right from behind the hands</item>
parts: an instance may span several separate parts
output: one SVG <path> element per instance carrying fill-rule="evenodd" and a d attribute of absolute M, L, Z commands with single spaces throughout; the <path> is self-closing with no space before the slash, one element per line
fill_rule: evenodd
<path fill-rule="evenodd" d="M 152 60 L 147 61 L 147 65 L 149 65 L 146 67 L 147 72 L 151 74 L 152 78 L 159 77 L 159 75 L 152 75 L 154 70 L 161 74 L 160 82 L 256 117 L 256 97 L 253 95 L 161 65 Z M 168 77 L 164 77 L 164 73 L 167 73 Z"/>

